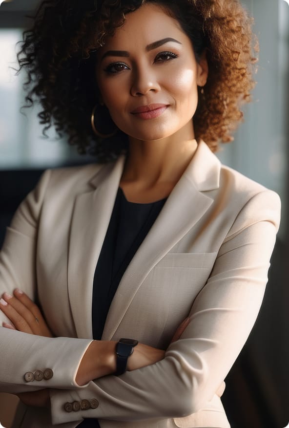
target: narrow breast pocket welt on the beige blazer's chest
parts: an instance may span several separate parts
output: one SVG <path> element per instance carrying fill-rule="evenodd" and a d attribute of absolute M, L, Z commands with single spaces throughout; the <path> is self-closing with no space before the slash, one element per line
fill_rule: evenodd
<path fill-rule="evenodd" d="M 209 269 L 216 257 L 217 253 L 168 253 L 155 267 Z"/>

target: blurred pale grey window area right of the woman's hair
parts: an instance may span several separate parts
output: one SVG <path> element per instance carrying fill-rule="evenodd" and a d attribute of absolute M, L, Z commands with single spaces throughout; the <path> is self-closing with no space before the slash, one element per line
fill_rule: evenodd
<path fill-rule="evenodd" d="M 288 0 L 243 0 L 255 20 L 260 43 L 257 86 L 244 108 L 235 141 L 218 154 L 224 164 L 279 193 L 286 219 L 288 170 L 289 4 Z M 286 222 L 279 235 L 285 234 Z"/>

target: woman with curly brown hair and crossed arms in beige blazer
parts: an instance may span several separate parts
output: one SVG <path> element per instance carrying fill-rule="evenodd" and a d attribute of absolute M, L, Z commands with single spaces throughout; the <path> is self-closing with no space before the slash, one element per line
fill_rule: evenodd
<path fill-rule="evenodd" d="M 20 53 L 42 123 L 106 163 L 46 171 L 7 230 L 1 388 L 15 427 L 226 428 L 280 211 L 212 153 L 253 87 L 251 22 L 236 1 L 87 3 L 43 2 Z"/>

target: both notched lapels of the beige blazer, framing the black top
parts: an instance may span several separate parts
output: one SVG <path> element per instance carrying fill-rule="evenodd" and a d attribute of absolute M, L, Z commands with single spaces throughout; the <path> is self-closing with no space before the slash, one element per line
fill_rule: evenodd
<path fill-rule="evenodd" d="M 76 197 L 68 255 L 68 295 L 79 338 L 92 337 L 94 271 L 113 210 L 124 160 L 124 156 L 120 156 L 117 162 L 98 169 L 89 180 L 92 191 Z M 201 141 L 124 273 L 109 309 L 103 340 L 110 340 L 116 333 L 134 295 L 151 269 L 206 213 L 213 200 L 203 192 L 219 187 L 220 167 L 216 156 Z"/>

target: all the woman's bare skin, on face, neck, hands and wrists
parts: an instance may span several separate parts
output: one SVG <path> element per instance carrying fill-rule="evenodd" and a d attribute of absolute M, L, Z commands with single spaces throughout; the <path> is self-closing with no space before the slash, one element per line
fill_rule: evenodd
<path fill-rule="evenodd" d="M 185 171 L 197 149 L 192 117 L 198 103 L 197 86 L 206 84 L 207 72 L 206 57 L 196 61 L 179 22 L 150 3 L 128 14 L 124 26 L 99 50 L 96 78 L 101 101 L 129 137 L 120 183 L 128 200 L 145 203 L 168 196 Z M 162 105 L 160 110 L 155 104 Z M 153 112 L 135 111 L 144 106 L 153 107 Z M 3 327 L 53 337 L 39 308 L 18 289 L 13 296 L 2 295 L 0 310 L 11 321 Z M 172 341 L 180 338 L 188 322 L 180 325 Z M 85 385 L 114 373 L 115 346 L 114 341 L 93 341 L 76 382 Z M 164 350 L 139 343 L 128 359 L 128 370 L 154 364 L 164 356 Z M 50 405 L 48 390 L 19 397 L 30 406 Z"/>

